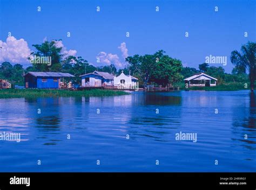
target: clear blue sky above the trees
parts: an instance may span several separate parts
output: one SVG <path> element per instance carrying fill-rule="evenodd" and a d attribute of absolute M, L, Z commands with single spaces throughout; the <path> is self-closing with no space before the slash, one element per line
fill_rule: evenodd
<path fill-rule="evenodd" d="M 41 6 L 41 12 L 37 7 Z M 100 6 L 100 12 L 96 7 Z M 159 6 L 159 12 L 156 12 Z M 218 6 L 218 12 L 214 7 Z M 230 53 L 242 44 L 255 42 L 255 1 L 8 1 L 0 0 L 0 40 L 8 32 L 23 38 L 31 51 L 47 37 L 62 39 L 66 50 L 76 50 L 89 63 L 99 52 L 111 61 L 125 64 L 125 43 L 129 56 L 165 50 L 184 66 L 196 67 L 206 56 L 227 56 L 226 72 L 231 72 Z M 71 37 L 67 37 L 71 32 Z M 126 37 L 130 32 L 130 37 Z M 188 32 L 188 37 L 185 37 Z M 248 37 L 244 36 L 248 32 Z M 15 52 L 14 52 L 15 53 Z M 113 56 L 114 55 L 114 56 Z M 8 56 L 2 60 L 8 59 Z M 1 62 L 1 53 L 0 53 Z M 28 63 L 23 63 L 28 66 Z M 212 66 L 221 66 L 213 64 Z"/>

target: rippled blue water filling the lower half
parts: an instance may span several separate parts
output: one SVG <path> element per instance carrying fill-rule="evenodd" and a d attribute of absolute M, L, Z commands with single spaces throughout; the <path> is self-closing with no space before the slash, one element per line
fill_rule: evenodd
<path fill-rule="evenodd" d="M 0 133 L 22 140 L 0 141 L 0 172 L 256 172 L 255 97 L 178 91 L 0 99 Z M 176 140 L 179 132 L 197 133 L 197 142 Z"/>

